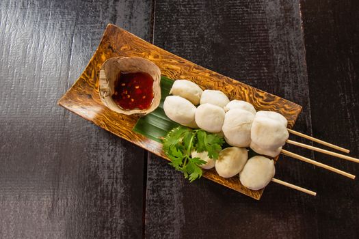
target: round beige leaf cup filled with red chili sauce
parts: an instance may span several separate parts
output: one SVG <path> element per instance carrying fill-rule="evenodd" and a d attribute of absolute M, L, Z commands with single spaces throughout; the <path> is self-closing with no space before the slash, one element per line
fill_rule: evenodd
<path fill-rule="evenodd" d="M 146 115 L 161 100 L 161 70 L 142 57 L 112 57 L 100 69 L 103 104 L 124 115 Z"/>

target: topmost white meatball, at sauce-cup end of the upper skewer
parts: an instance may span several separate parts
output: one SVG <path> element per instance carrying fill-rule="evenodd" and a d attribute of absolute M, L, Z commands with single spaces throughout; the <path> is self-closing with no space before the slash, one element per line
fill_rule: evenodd
<path fill-rule="evenodd" d="M 196 83 L 187 80 L 176 80 L 172 85 L 170 94 L 181 96 L 192 104 L 197 105 L 200 102 L 202 92 L 203 90 Z"/>

